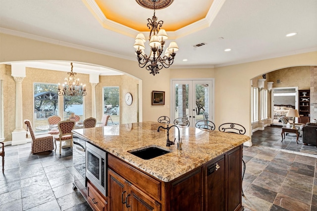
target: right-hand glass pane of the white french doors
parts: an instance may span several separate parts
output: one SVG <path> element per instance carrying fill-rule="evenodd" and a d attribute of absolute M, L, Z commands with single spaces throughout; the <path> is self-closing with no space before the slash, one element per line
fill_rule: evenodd
<path fill-rule="evenodd" d="M 196 122 L 209 120 L 209 84 L 196 84 Z"/>

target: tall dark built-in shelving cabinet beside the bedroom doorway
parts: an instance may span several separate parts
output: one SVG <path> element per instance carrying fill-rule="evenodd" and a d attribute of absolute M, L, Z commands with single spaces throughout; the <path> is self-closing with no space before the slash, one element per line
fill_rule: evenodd
<path fill-rule="evenodd" d="M 299 115 L 298 118 L 299 123 L 309 123 L 310 122 L 310 108 L 311 108 L 311 91 L 307 90 L 299 90 L 298 91 L 298 102 L 299 102 Z"/>

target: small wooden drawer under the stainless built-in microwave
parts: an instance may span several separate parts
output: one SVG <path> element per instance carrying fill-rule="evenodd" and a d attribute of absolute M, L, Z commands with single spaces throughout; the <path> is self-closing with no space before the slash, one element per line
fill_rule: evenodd
<path fill-rule="evenodd" d="M 107 211 L 106 200 L 98 193 L 96 188 L 87 183 L 88 203 L 94 208 L 95 211 Z"/>

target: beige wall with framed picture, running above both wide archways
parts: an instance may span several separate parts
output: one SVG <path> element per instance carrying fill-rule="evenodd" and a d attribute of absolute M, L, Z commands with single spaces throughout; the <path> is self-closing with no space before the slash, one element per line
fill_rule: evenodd
<path fill-rule="evenodd" d="M 171 78 L 188 76 L 194 78 L 215 78 L 216 126 L 224 122 L 240 123 L 246 126 L 246 134 L 248 135 L 251 135 L 250 80 L 277 69 L 317 65 L 317 51 L 314 51 L 214 69 L 193 69 L 195 70 L 193 71 L 194 73 L 187 69 L 164 69 L 153 77 L 145 69 L 139 68 L 136 61 L 5 34 L 0 34 L 0 40 L 0 62 L 27 60 L 73 61 L 113 68 L 141 79 L 143 88 L 140 95 L 140 102 L 142 102 L 140 106 L 143 106 L 141 111 L 143 112 L 143 121 L 157 121 L 158 116 L 169 115 L 167 106 L 169 105 Z M 151 93 L 153 90 L 165 91 L 164 106 L 151 105 Z"/>

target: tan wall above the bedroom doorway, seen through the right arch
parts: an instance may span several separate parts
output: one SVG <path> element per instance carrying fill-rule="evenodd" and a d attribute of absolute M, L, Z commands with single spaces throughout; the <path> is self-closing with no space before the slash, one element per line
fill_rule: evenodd
<path fill-rule="evenodd" d="M 289 67 L 270 72 L 270 81 L 274 82 L 273 87 L 298 86 L 298 89 L 310 89 L 311 73 L 310 66 Z M 276 80 L 280 80 L 280 84 Z"/>

